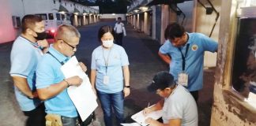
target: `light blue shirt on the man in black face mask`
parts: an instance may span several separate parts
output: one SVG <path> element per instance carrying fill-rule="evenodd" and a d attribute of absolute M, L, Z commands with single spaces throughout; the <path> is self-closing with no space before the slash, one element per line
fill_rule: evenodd
<path fill-rule="evenodd" d="M 13 43 L 10 54 L 11 69 L 10 76 L 21 76 L 26 78 L 31 91 L 36 90 L 36 66 L 43 56 L 42 50 L 36 43 L 30 42 L 22 36 L 17 37 Z M 39 99 L 30 99 L 14 87 L 17 102 L 22 111 L 31 111 L 40 104 Z"/>

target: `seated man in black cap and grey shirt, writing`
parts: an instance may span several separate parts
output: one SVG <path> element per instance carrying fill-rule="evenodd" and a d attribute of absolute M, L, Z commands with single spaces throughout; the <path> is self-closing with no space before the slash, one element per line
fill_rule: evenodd
<path fill-rule="evenodd" d="M 185 87 L 177 85 L 168 72 L 158 72 L 148 87 L 149 91 L 163 97 L 155 106 L 145 108 L 145 116 L 153 111 L 163 109 L 164 124 L 151 117 L 145 122 L 151 126 L 175 125 L 198 126 L 198 108 L 190 92 Z"/>

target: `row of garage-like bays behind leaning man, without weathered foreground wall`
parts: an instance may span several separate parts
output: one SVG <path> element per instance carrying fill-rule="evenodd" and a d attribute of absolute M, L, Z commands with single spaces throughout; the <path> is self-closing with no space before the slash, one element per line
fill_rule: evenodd
<path fill-rule="evenodd" d="M 164 29 L 171 22 L 183 24 L 188 32 L 201 32 L 218 40 L 220 0 L 156 1 L 137 0 L 130 6 L 127 20 L 138 31 L 164 44 Z M 211 13 L 208 12 L 211 8 Z M 205 67 L 216 66 L 216 53 L 205 52 Z"/>

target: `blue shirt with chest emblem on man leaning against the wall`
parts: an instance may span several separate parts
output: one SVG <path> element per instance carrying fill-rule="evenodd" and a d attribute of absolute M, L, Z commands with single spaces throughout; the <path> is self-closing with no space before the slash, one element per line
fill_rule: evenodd
<path fill-rule="evenodd" d="M 189 46 L 185 57 L 185 70 L 189 76 L 188 87 L 189 91 L 198 91 L 202 88 L 203 83 L 203 65 L 205 51 L 215 52 L 218 44 L 201 33 L 187 33 L 189 40 L 185 46 L 181 47 L 183 55 L 186 53 L 186 46 Z M 179 49 L 167 40 L 164 45 L 160 46 L 161 54 L 171 56 L 170 73 L 178 80 L 179 73 L 183 72 L 183 59 Z"/>

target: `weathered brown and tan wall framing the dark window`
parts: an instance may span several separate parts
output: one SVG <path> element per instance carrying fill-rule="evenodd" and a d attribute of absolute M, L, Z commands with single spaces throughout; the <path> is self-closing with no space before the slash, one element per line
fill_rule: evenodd
<path fill-rule="evenodd" d="M 232 75 L 232 55 L 235 42 L 236 1 L 221 2 L 219 48 L 217 55 L 216 83 L 211 125 L 213 126 L 253 126 L 256 125 L 256 109 L 230 87 Z"/>

